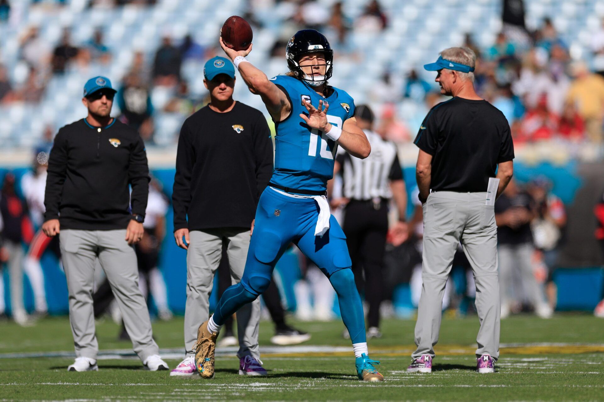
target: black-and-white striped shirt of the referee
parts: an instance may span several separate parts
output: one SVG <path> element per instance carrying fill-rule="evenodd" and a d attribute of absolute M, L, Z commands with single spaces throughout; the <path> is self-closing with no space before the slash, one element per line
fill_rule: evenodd
<path fill-rule="evenodd" d="M 365 159 L 347 152 L 336 156 L 342 175 L 342 195 L 350 199 L 391 198 L 390 181 L 403 180 L 397 148 L 373 131 L 365 131 L 371 154 Z"/>

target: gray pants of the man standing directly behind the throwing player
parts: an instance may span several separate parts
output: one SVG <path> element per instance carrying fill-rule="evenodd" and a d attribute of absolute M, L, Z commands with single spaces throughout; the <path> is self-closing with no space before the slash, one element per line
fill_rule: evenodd
<path fill-rule="evenodd" d="M 231 283 L 238 284 L 248 256 L 249 230 L 208 229 L 189 233 L 187 250 L 187 304 L 185 305 L 185 350 L 193 355 L 199 325 L 210 317 L 210 293 L 214 275 L 222 257 L 222 242 L 231 267 Z M 258 327 L 260 323 L 260 299 L 246 304 L 237 311 L 237 336 L 239 357 L 252 355 L 260 358 Z"/>

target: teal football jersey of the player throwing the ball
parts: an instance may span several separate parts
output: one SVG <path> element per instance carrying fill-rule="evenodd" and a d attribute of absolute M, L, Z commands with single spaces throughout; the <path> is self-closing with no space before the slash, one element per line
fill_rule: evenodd
<path fill-rule="evenodd" d="M 338 144 L 326 135 L 306 125 L 300 114 L 308 114 L 302 104 L 305 99 L 315 108 L 319 100 L 329 103 L 327 120 L 342 128 L 347 118 L 355 115 L 355 103 L 345 91 L 333 88 L 324 98 L 301 80 L 289 76 L 271 78 L 292 103 L 291 114 L 275 123 L 275 171 L 271 182 L 291 189 L 325 191 L 327 180 L 333 177 L 333 162 Z"/>

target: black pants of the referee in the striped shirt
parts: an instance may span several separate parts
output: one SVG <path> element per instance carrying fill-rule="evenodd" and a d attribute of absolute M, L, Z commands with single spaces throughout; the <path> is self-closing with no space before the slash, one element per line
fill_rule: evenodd
<path fill-rule="evenodd" d="M 388 233 L 388 201 L 347 204 L 342 225 L 352 259 L 356 288 L 369 303 L 367 326 L 379 326 L 379 306 L 384 298 L 384 252 Z"/>

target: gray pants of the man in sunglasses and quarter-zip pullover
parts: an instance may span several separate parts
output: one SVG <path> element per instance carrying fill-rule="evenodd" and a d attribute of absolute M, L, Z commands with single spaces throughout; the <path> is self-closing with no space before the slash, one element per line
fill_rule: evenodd
<path fill-rule="evenodd" d="M 138 288 L 137 256 L 122 230 L 61 230 L 60 247 L 69 291 L 69 322 L 77 357 L 97 358 L 92 292 L 94 266 L 103 267 L 132 348 L 141 360 L 158 354 L 147 303 Z"/>

